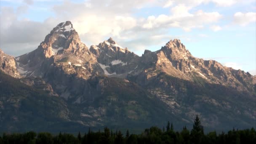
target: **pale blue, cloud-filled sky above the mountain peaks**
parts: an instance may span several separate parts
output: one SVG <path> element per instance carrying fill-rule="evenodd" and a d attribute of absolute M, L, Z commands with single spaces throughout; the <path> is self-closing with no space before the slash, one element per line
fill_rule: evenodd
<path fill-rule="evenodd" d="M 63 21 L 88 47 L 112 37 L 141 56 L 177 38 L 195 57 L 256 75 L 256 0 L 0 0 L 0 48 L 30 52 Z"/>

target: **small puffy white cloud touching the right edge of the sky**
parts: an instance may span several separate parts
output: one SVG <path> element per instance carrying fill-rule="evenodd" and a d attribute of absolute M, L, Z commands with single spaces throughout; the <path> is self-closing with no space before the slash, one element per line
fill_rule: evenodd
<path fill-rule="evenodd" d="M 241 26 L 246 26 L 247 24 L 251 22 L 256 21 L 256 13 L 248 12 L 248 13 L 241 13 L 237 12 L 234 14 L 234 20 L 233 22 L 235 24 L 239 24 Z"/>

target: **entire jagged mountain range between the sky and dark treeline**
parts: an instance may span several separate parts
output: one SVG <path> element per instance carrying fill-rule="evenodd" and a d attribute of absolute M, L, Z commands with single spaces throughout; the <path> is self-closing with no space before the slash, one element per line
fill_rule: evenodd
<path fill-rule="evenodd" d="M 70 21 L 34 51 L 0 50 L 0 129 L 177 128 L 199 115 L 205 128 L 256 126 L 256 76 L 198 59 L 180 40 L 142 56 L 111 37 L 90 48 Z"/>

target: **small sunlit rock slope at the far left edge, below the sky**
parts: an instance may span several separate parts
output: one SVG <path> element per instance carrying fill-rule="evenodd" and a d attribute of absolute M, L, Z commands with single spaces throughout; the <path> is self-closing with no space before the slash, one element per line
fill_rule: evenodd
<path fill-rule="evenodd" d="M 0 70 L 12 77 L 20 77 L 18 69 L 16 68 L 16 61 L 12 56 L 5 54 L 0 49 Z"/>

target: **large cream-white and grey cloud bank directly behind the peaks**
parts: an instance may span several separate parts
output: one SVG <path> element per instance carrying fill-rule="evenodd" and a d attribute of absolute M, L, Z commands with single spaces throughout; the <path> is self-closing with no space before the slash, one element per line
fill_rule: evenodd
<path fill-rule="evenodd" d="M 17 1 L 19 1 L 20 6 L 25 5 L 24 3 L 33 4 L 33 0 Z M 13 0 L 13 3 L 17 1 Z M 36 1 L 50 0 L 34 0 L 33 5 L 35 7 Z M 5 49 L 12 48 L 13 51 L 20 48 L 19 45 L 24 45 L 25 48 L 35 48 L 44 40 L 45 35 L 53 27 L 62 21 L 69 20 L 72 21 L 81 40 L 88 46 L 98 44 L 108 37 L 114 37 L 123 47 L 127 46 L 131 50 L 142 51 L 144 48 L 152 45 L 162 45 L 170 40 L 170 28 L 179 28 L 189 32 L 192 29 L 203 29 L 213 25 L 214 27 L 211 28 L 214 31 L 220 30 L 221 27 L 217 24 L 222 18 L 221 13 L 217 11 L 195 11 L 196 6 L 208 3 L 224 6 L 234 5 L 240 3 L 240 1 L 86 0 L 82 3 L 73 3 L 64 0 L 55 5 L 48 5 L 48 7 L 52 7 L 50 11 L 55 14 L 55 18 L 49 18 L 43 22 L 21 19 L 21 11 L 16 12 L 17 9 L 1 7 L 0 46 L 3 49 L 4 47 Z M 140 8 L 150 8 L 152 6 L 169 8 L 170 11 L 154 16 L 136 16 L 136 12 Z M 25 6 L 23 8 L 26 10 Z M 203 34 L 198 36 L 207 37 Z M 192 40 L 190 37 L 184 39 Z M 32 45 L 35 43 L 36 45 L 33 47 Z"/>

